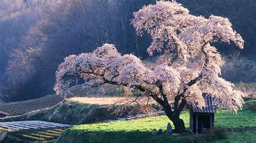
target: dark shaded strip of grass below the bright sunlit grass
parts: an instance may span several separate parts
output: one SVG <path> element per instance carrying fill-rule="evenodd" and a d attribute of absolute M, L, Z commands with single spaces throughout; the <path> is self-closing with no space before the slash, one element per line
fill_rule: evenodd
<path fill-rule="evenodd" d="M 81 130 L 67 130 L 56 142 L 193 142 L 195 136 L 184 133 L 177 136 L 172 134 L 157 134 L 143 131 L 116 132 L 87 132 Z"/>

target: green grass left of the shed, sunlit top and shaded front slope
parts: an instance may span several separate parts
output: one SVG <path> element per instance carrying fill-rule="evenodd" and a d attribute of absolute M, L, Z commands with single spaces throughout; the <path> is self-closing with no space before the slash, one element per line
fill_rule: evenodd
<path fill-rule="evenodd" d="M 188 116 L 188 112 L 181 115 L 186 127 L 188 127 Z M 77 125 L 63 132 L 62 137 L 56 142 L 64 140 L 66 142 L 158 142 L 159 137 L 166 142 L 184 142 L 184 140 L 190 142 L 194 139 L 190 134 L 183 134 L 174 139 L 170 134 L 152 135 L 153 128 L 166 130 L 168 123 L 169 119 L 166 116 L 158 116 L 112 123 Z"/>

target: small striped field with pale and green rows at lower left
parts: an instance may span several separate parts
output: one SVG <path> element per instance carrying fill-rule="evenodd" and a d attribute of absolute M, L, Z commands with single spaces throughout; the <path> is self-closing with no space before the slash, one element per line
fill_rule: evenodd
<path fill-rule="evenodd" d="M 56 139 L 71 125 L 48 121 L 26 120 L 0 123 L 0 142 L 49 141 Z"/>

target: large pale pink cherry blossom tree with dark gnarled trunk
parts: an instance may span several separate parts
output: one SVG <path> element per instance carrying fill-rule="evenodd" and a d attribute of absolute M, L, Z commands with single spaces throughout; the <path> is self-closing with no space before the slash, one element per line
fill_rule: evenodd
<path fill-rule="evenodd" d="M 118 53 L 114 45 L 104 44 L 92 53 L 70 55 L 59 65 L 54 90 L 71 94 L 72 77 L 84 79 L 84 87 L 103 84 L 123 85 L 140 94 L 133 98 L 153 99 L 173 122 L 176 132 L 185 131 L 179 118 L 186 104 L 205 106 L 203 92 L 215 97 L 220 108 L 237 112 L 242 108 L 242 92 L 223 78 L 224 65 L 212 42 L 234 42 L 243 48 L 244 40 L 232 29 L 227 18 L 190 15 L 176 2 L 157 2 L 134 12 L 132 25 L 137 34 L 151 35 L 150 55 L 161 52 L 156 66 L 148 67 L 132 54 Z"/>

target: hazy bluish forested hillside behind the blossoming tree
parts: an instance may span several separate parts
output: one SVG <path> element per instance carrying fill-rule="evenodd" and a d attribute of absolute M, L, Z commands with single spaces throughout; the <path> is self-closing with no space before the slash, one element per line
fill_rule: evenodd
<path fill-rule="evenodd" d="M 207 0 L 177 1 L 193 15 L 222 16 L 245 40 L 239 50 L 243 57 L 237 67 L 256 75 L 256 1 Z M 138 37 L 132 25 L 132 13 L 149 0 L 2 0 L 0 1 L 0 95 L 9 101 L 22 101 L 53 93 L 55 71 L 65 56 L 92 52 L 105 42 L 116 45 L 120 53 L 133 53 L 147 59 L 151 39 Z M 229 48 L 224 48 L 224 47 Z M 228 56 L 238 48 L 218 44 Z M 159 53 L 160 54 L 160 53 Z M 245 59 L 247 58 L 247 59 Z M 228 63 L 234 62 L 230 60 Z M 251 61 L 248 61 L 251 60 Z M 247 64 L 248 63 L 248 64 Z M 239 65 L 240 64 L 240 65 Z M 234 67 L 234 65 L 228 65 Z M 231 69 L 231 68 L 226 68 Z M 230 71 L 225 70 L 226 73 Z M 233 72 L 237 74 L 236 71 Z M 245 75 L 241 72 L 241 74 Z M 256 82 L 253 78 L 232 82 Z M 0 97 L 1 98 L 1 97 Z"/>

